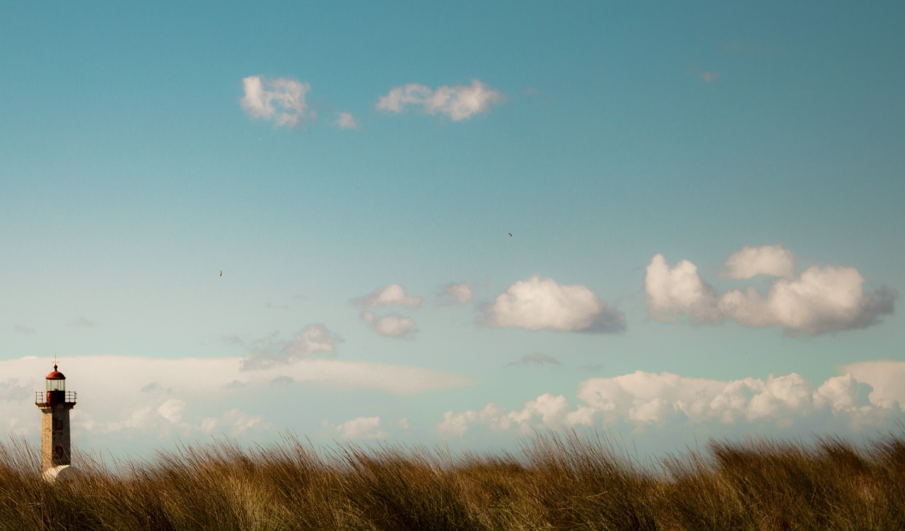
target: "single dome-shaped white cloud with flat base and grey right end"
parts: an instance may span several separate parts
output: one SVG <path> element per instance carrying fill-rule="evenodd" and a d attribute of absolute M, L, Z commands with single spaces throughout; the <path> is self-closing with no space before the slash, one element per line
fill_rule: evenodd
<path fill-rule="evenodd" d="M 577 284 L 560 286 L 537 275 L 512 284 L 493 304 L 483 308 L 483 322 L 491 327 L 559 332 L 625 329 L 624 314 L 607 308 L 594 291 Z"/>

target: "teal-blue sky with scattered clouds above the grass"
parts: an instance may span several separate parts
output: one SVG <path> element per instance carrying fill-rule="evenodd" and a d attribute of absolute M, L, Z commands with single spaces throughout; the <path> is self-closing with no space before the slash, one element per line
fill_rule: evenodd
<path fill-rule="evenodd" d="M 902 12 L 5 5 L 7 431 L 895 429 Z"/>

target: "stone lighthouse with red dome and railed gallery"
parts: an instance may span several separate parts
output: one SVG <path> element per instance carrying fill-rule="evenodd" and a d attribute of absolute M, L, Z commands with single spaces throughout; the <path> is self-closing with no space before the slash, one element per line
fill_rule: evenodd
<path fill-rule="evenodd" d="M 66 391 L 66 376 L 57 370 L 47 375 L 47 390 L 34 394 L 34 405 L 41 410 L 41 469 L 46 474 L 68 467 L 70 461 L 69 410 L 75 406 L 75 393 Z"/>

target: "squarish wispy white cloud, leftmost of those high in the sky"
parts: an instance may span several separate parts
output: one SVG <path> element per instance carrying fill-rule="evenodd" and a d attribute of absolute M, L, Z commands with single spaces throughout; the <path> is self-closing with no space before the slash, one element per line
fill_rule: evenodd
<path fill-rule="evenodd" d="M 310 90 L 308 82 L 289 78 L 268 80 L 261 76 L 249 76 L 242 82 L 245 92 L 242 108 L 252 119 L 272 120 L 277 126 L 294 128 L 317 116 L 305 101 Z"/>

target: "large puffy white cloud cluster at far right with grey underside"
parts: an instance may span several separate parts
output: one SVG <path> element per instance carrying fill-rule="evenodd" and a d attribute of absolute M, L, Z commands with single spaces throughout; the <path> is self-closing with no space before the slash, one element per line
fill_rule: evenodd
<path fill-rule="evenodd" d="M 739 278 L 750 273 L 788 274 L 792 257 L 786 252 L 746 248 L 730 256 L 727 265 Z M 863 283 L 864 278 L 854 268 L 812 266 L 797 278 L 774 280 L 766 295 L 748 286 L 717 296 L 691 261 L 671 267 L 662 254 L 657 254 L 647 266 L 644 289 L 653 318 L 674 320 L 678 315 L 688 315 L 711 324 L 729 318 L 747 327 L 784 327 L 790 332 L 820 334 L 868 327 L 881 315 L 892 313 L 897 293 L 881 288 L 866 294 Z"/>

